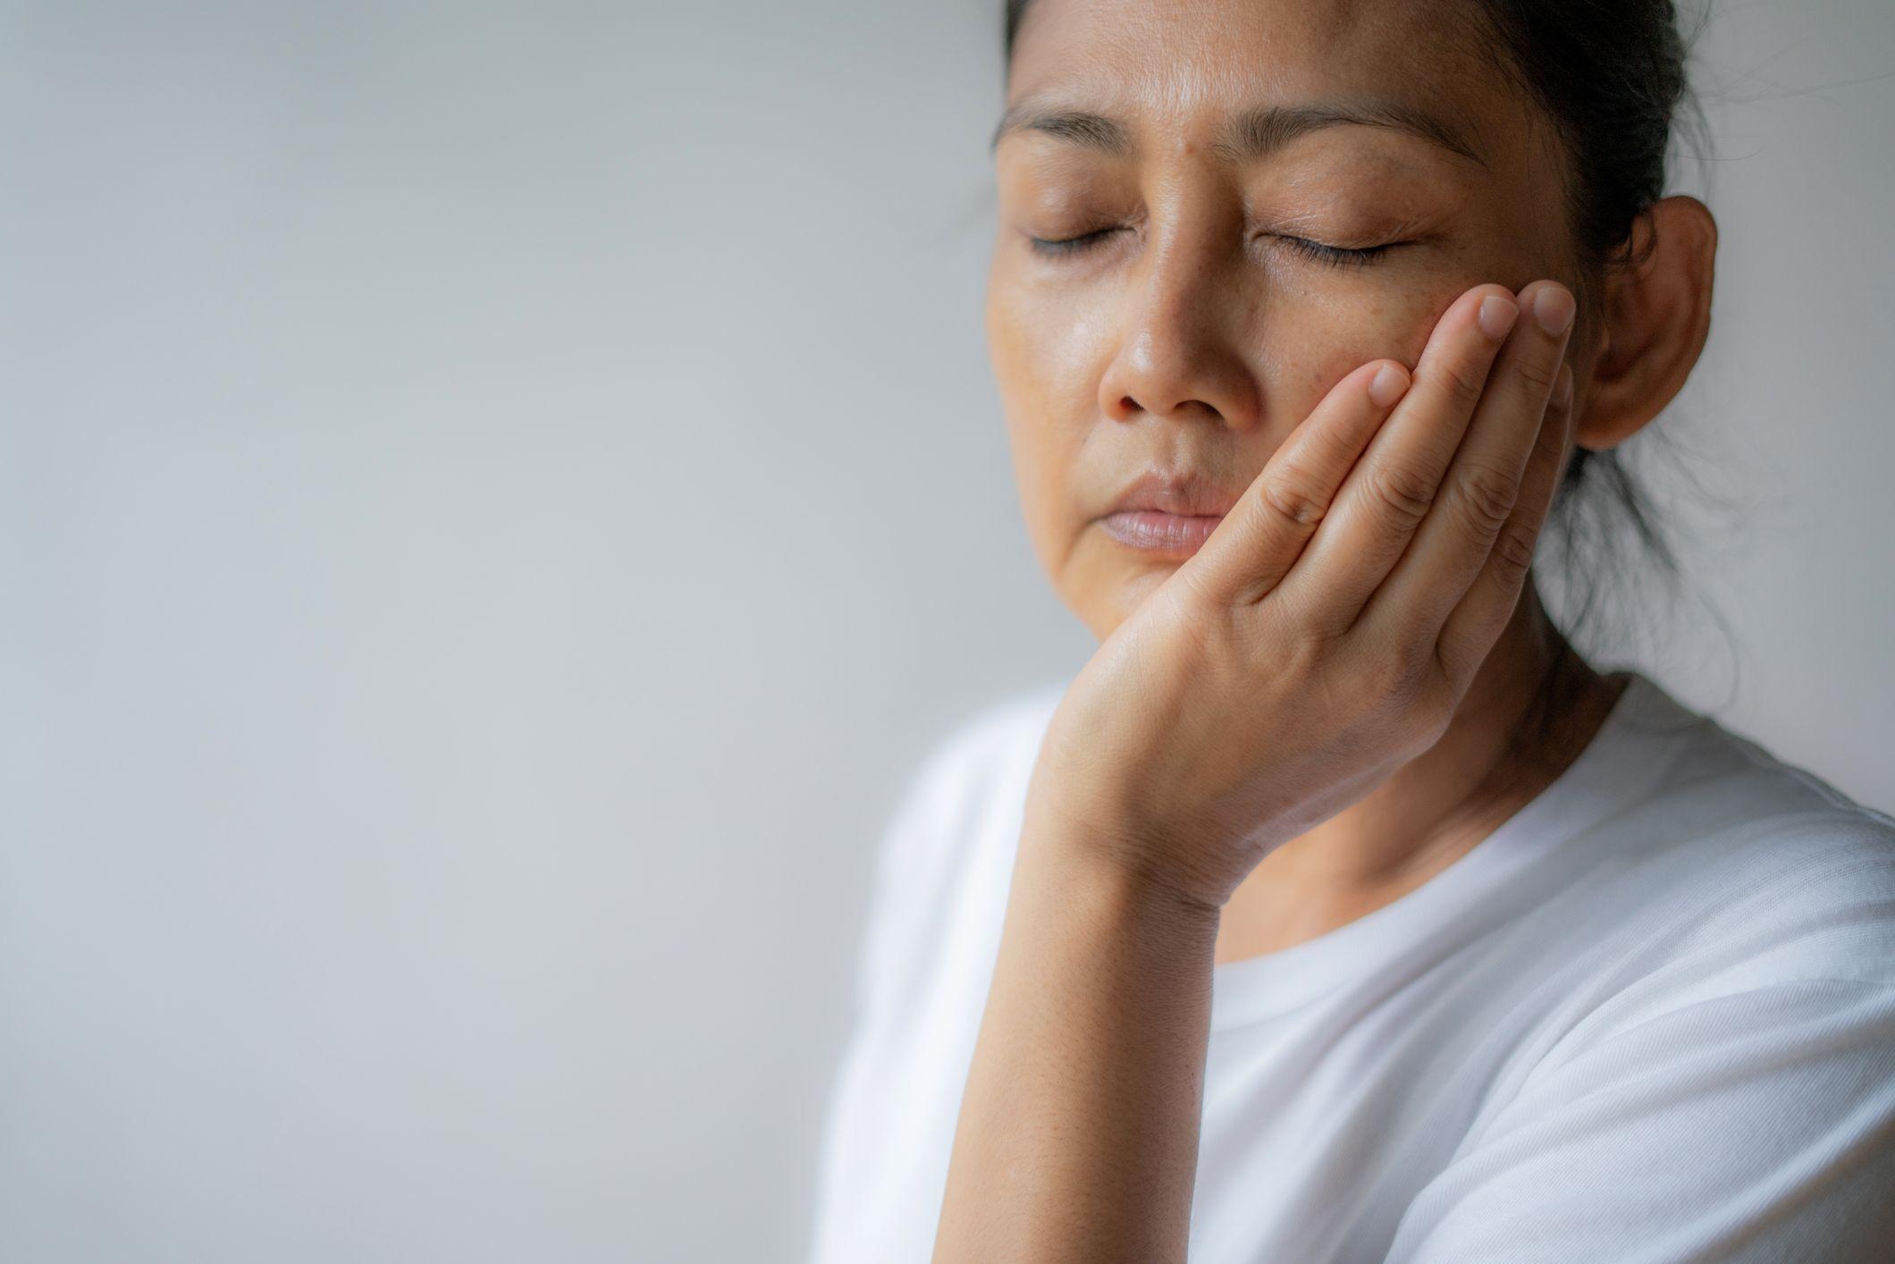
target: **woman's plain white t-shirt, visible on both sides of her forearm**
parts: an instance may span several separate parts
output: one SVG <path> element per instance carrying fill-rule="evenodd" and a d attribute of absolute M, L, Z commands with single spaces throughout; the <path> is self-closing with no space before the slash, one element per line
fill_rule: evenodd
<path fill-rule="evenodd" d="M 1063 686 L 877 853 L 811 1264 L 925 1264 Z M 1633 673 L 1393 904 L 1213 968 L 1192 1264 L 1895 1260 L 1895 819 Z"/>

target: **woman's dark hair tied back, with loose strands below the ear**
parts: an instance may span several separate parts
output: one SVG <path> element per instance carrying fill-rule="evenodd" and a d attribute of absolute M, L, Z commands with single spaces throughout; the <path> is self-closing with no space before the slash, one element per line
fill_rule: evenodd
<path fill-rule="evenodd" d="M 1002 55 L 1008 70 L 1029 4 L 1006 0 Z M 1599 318 L 1607 275 L 1635 267 L 1649 254 L 1651 239 L 1645 235 L 1647 248 L 1639 248 L 1635 226 L 1664 197 L 1673 125 L 1692 131 L 1700 146 L 1709 148 L 1704 112 L 1685 70 L 1704 17 L 1707 11 L 1700 13 L 1687 38 L 1679 32 L 1671 0 L 1476 0 L 1471 6 L 1469 36 L 1505 53 L 1495 59 L 1497 64 L 1524 97 L 1544 110 L 1565 144 L 1567 222 L 1579 260 L 1575 343 Z M 1584 495 L 1590 487 L 1601 493 Z M 1654 527 L 1651 498 L 1618 449 L 1575 447 L 1541 534 L 1560 553 L 1565 578 L 1582 574 L 1584 584 L 1573 587 L 1584 591 L 1584 601 L 1571 627 L 1556 629 L 1554 667 L 1514 733 L 1514 750 L 1522 756 L 1544 745 L 1582 682 L 1571 637 L 1590 622 L 1601 587 L 1597 570 L 1613 561 L 1609 548 L 1597 548 L 1590 567 L 1575 565 L 1582 544 L 1609 544 L 1611 521 L 1596 500 L 1618 504 L 1668 587 L 1675 591 L 1679 580 L 1677 555 Z M 1527 743 L 1527 733 L 1537 743 Z"/>

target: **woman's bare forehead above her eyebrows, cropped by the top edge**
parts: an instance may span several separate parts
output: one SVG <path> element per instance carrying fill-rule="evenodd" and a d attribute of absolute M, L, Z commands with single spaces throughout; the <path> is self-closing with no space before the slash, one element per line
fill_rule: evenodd
<path fill-rule="evenodd" d="M 1014 123 L 1078 110 L 1126 125 L 1063 136 L 1093 150 L 1224 152 L 1239 114 L 1258 108 L 1366 110 L 1397 123 L 1378 133 L 1471 150 L 1491 171 L 1518 159 L 1535 125 L 1497 55 L 1474 0 L 1033 0 L 995 140 L 1044 136 Z"/>

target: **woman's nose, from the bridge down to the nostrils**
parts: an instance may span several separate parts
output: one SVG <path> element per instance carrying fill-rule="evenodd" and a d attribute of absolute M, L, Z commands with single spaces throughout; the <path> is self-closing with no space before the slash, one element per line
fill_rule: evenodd
<path fill-rule="evenodd" d="M 1099 379 L 1101 413 L 1254 426 L 1258 387 L 1243 354 L 1254 296 L 1241 231 L 1207 201 L 1179 201 L 1148 224 L 1120 298 L 1118 347 Z"/>

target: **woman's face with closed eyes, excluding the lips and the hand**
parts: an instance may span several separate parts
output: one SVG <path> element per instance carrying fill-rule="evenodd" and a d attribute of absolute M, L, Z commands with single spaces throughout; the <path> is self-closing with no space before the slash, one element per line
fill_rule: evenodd
<path fill-rule="evenodd" d="M 1474 17 L 1472 0 L 1027 11 L 987 343 L 1035 553 L 1097 637 L 1188 557 L 1099 521 L 1141 474 L 1234 497 L 1349 370 L 1414 368 L 1471 286 L 1577 290 L 1558 142 Z M 1338 114 L 1412 129 L 1323 125 Z M 1582 371 L 1577 337 L 1571 358 Z"/>

